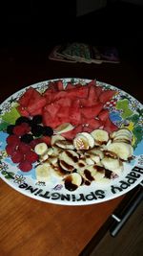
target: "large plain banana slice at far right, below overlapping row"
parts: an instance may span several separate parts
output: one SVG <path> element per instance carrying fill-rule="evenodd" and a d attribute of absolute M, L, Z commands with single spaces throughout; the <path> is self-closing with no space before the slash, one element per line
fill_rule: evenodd
<path fill-rule="evenodd" d="M 112 142 L 108 151 L 115 152 L 120 159 L 125 161 L 133 155 L 133 147 L 125 142 Z"/>

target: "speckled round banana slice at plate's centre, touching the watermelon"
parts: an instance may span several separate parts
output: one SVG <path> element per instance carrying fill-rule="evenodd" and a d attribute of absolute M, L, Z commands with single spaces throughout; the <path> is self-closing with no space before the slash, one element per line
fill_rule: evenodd
<path fill-rule="evenodd" d="M 82 150 L 89 150 L 90 148 L 90 143 L 88 138 L 83 135 L 82 133 L 78 133 L 75 138 L 73 139 L 73 146 L 74 148 L 78 151 L 82 151 Z"/>

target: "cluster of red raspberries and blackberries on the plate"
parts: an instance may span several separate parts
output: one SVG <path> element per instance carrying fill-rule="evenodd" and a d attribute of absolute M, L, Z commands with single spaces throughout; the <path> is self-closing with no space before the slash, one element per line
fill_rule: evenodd
<path fill-rule="evenodd" d="M 32 163 L 38 160 L 38 154 L 34 151 L 37 144 L 45 141 L 48 135 L 49 141 L 53 133 L 52 128 L 41 125 L 42 116 L 36 115 L 33 118 L 19 117 L 15 125 L 7 128 L 6 151 L 10 155 L 13 163 L 18 164 L 18 168 L 23 172 L 32 169 Z M 48 140 L 47 140 L 48 142 Z"/>

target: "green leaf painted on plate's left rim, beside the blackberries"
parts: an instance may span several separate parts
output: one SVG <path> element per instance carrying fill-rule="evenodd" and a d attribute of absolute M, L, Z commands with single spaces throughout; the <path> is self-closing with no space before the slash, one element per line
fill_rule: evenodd
<path fill-rule="evenodd" d="M 10 112 L 5 113 L 4 115 L 1 115 L 1 118 L 3 121 L 5 121 L 8 124 L 14 125 L 15 120 L 20 117 L 19 112 L 17 111 L 16 107 L 13 106 L 10 110 Z"/>

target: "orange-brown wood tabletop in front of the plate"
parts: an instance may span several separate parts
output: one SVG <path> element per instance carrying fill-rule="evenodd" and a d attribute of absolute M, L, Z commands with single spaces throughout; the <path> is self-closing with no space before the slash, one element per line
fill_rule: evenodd
<path fill-rule="evenodd" d="M 123 197 L 87 206 L 28 198 L 0 180 L 0 255 L 76 256 Z"/>

